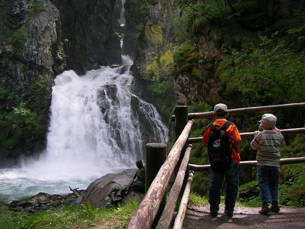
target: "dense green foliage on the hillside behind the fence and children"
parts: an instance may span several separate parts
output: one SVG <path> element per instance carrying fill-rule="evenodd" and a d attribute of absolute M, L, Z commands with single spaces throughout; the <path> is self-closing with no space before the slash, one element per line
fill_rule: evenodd
<path fill-rule="evenodd" d="M 297 1 L 286 3 L 278 1 L 271 7 L 267 2 L 256 0 L 179 1 L 174 11 L 174 38 L 178 47 L 174 52 L 173 75 L 197 76 L 196 79 L 202 84 L 213 79 L 217 82 L 217 93 L 221 98 L 240 107 L 304 102 L 305 5 Z M 293 13 L 284 14 L 282 7 L 288 7 Z M 201 60 L 198 55 L 200 36 L 221 50 L 219 60 Z M 198 66 L 199 61 L 202 67 Z M 208 100 L 198 103 L 205 102 L 209 103 Z M 188 104 L 192 104 L 190 107 L 196 107 L 196 103 L 188 101 Z M 261 115 L 246 117 L 248 126 L 244 128 L 247 132 L 258 128 L 257 120 Z M 279 126 L 285 126 L 291 122 L 294 114 L 277 112 L 276 115 Z M 209 121 L 195 120 L 191 137 L 202 136 Z M 302 135 L 287 138 L 289 142 L 282 150 L 282 157 L 304 156 L 304 150 L 299 148 L 302 138 Z M 240 154 L 243 161 L 255 160 L 256 152 L 249 150 L 249 141 L 242 141 Z M 190 163 L 209 164 L 203 144 L 193 145 Z M 304 190 L 302 184 L 305 180 L 300 175 L 302 169 L 303 164 L 281 166 L 280 201 L 283 204 L 304 206 L 304 191 L 301 190 Z M 211 173 L 205 172 L 205 176 L 197 173 L 194 174 L 192 190 L 207 195 Z M 242 175 L 246 173 L 247 178 L 242 178 L 250 182 L 242 183 L 241 190 L 257 188 L 256 168 L 241 171 Z M 259 197 L 241 199 L 240 202 L 260 206 Z"/>

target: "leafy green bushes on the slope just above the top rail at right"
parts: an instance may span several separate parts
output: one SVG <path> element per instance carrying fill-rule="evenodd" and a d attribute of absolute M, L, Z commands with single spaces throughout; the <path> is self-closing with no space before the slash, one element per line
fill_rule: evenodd
<path fill-rule="evenodd" d="M 260 36 L 252 52 L 231 49 L 216 75 L 227 94 L 242 93 L 252 104 L 298 102 L 305 98 L 305 55 L 285 48 L 285 42 Z"/>

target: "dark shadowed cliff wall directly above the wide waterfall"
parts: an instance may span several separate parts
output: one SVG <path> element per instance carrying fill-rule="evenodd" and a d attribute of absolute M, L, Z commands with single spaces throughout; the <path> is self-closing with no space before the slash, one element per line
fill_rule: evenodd
<path fill-rule="evenodd" d="M 78 74 L 121 62 L 120 41 L 112 30 L 115 0 L 51 0 L 61 15 L 69 69 Z"/>

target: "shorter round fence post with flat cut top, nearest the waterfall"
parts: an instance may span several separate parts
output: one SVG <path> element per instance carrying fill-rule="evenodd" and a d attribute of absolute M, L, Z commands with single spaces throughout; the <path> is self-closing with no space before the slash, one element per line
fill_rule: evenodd
<path fill-rule="evenodd" d="M 167 155 L 167 146 L 163 143 L 148 143 L 146 144 L 146 159 L 145 159 L 145 194 L 149 189 L 149 186 L 152 184 L 152 181 L 155 179 L 159 169 L 166 160 Z M 163 196 L 163 199 L 160 203 L 158 213 L 156 218 L 152 223 L 151 228 L 155 228 L 158 224 L 158 221 L 162 215 L 164 206 L 166 203 L 166 195 Z"/>

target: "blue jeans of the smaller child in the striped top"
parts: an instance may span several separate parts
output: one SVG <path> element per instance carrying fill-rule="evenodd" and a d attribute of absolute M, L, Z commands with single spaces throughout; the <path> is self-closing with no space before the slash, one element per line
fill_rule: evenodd
<path fill-rule="evenodd" d="M 280 168 L 270 165 L 257 165 L 258 185 L 260 187 L 260 201 L 278 201 L 278 178 Z"/>

